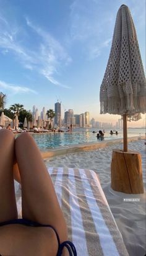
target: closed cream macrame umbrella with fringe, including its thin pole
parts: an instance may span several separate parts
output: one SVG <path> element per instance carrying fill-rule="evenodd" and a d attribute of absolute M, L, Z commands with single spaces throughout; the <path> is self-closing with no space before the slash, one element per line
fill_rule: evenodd
<path fill-rule="evenodd" d="M 124 151 L 127 151 L 127 117 L 139 120 L 145 113 L 145 74 L 129 8 L 122 4 L 116 16 L 108 64 L 100 88 L 100 114 L 123 116 Z"/>

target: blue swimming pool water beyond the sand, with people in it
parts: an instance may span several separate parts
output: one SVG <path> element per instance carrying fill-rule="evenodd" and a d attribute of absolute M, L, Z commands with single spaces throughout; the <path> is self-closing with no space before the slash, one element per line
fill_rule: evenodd
<path fill-rule="evenodd" d="M 139 130 L 129 130 L 128 137 L 139 136 Z M 144 132 L 141 131 L 141 135 Z M 100 143 L 101 140 L 97 139 L 97 133 L 93 134 L 92 130 L 82 130 L 80 132 L 61 132 L 61 133 L 49 133 L 49 134 L 33 134 L 40 150 L 45 151 L 48 149 L 53 149 L 55 147 L 69 146 L 74 144 L 82 144 L 87 142 L 97 142 Z M 118 135 L 110 135 L 109 131 L 105 133 L 104 140 L 113 140 L 122 138 L 122 129 L 118 129 Z"/>

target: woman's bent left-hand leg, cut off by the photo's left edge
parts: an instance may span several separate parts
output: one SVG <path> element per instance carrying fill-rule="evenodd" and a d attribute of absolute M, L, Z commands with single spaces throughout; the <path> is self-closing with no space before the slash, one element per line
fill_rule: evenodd
<path fill-rule="evenodd" d="M 0 130 L 0 222 L 17 218 L 15 203 L 13 164 L 14 134 Z"/>

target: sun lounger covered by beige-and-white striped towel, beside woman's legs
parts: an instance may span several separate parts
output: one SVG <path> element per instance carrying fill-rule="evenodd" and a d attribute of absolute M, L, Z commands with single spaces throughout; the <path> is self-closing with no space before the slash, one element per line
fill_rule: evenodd
<path fill-rule="evenodd" d="M 67 222 L 69 240 L 79 256 L 127 256 L 98 175 L 92 170 L 49 168 Z M 17 200 L 21 211 L 21 199 Z"/>

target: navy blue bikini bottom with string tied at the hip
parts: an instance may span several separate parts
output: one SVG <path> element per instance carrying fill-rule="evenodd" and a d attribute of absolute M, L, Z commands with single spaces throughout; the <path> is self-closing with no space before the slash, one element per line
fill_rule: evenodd
<path fill-rule="evenodd" d="M 51 229 L 53 229 L 53 231 L 55 232 L 57 240 L 58 240 L 58 253 L 56 256 L 62 255 L 62 250 L 64 249 L 64 247 L 66 247 L 67 250 L 69 251 L 69 256 L 77 256 L 77 251 L 75 249 L 74 244 L 72 244 L 72 242 L 68 241 L 68 240 L 62 242 L 62 244 L 61 244 L 58 232 L 51 225 L 40 224 L 38 222 L 30 221 L 28 219 L 13 219 L 11 221 L 1 222 L 0 226 L 9 225 L 9 224 L 22 224 L 22 225 L 29 226 L 29 227 L 51 227 Z"/>

